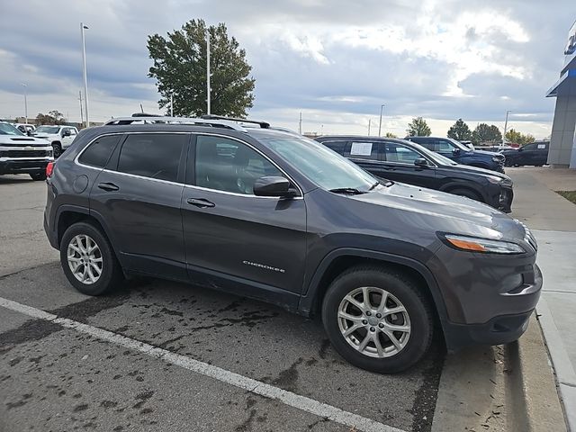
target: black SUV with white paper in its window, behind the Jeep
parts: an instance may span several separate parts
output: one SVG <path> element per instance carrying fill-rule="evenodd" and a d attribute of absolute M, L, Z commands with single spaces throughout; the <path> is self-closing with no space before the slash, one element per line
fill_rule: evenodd
<path fill-rule="evenodd" d="M 511 211 L 514 193 L 508 175 L 456 164 L 404 139 L 322 136 L 316 140 L 378 177 L 454 193 Z"/>

